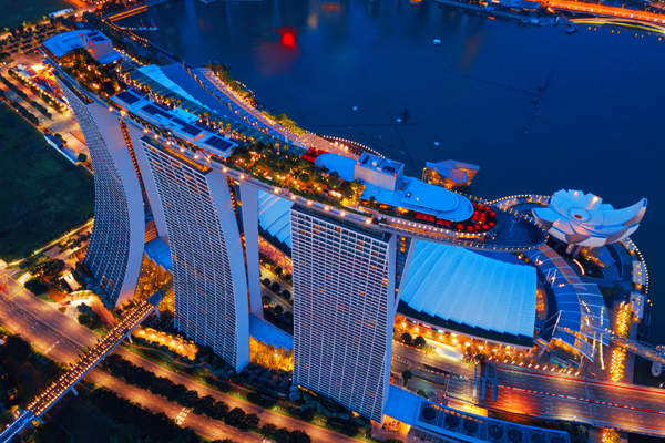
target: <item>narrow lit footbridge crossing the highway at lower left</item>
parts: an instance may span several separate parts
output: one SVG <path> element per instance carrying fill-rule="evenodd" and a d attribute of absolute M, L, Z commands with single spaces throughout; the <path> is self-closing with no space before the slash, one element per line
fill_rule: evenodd
<path fill-rule="evenodd" d="M 69 391 L 76 393 L 74 385 L 81 381 L 100 361 L 117 347 L 143 320 L 145 320 L 162 300 L 163 292 L 157 291 L 131 310 L 125 318 L 111 330 L 93 349 L 49 389 L 32 401 L 25 410 L 14 414 L 14 421 L 0 433 L 0 443 L 10 443 L 30 422 L 40 420 L 47 411 Z"/>

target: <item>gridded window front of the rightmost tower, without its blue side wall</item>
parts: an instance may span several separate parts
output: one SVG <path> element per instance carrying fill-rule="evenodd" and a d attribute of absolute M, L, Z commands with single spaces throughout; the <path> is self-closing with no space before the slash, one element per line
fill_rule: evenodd
<path fill-rule="evenodd" d="M 386 285 L 375 285 L 372 281 L 377 278 L 379 281 L 383 281 L 383 279 L 387 278 L 388 269 L 383 258 L 388 251 L 388 246 L 386 243 L 377 241 L 362 234 L 350 231 L 349 229 L 342 228 L 338 230 L 338 227 L 325 223 L 324 220 L 315 219 L 314 226 L 308 226 L 308 223 L 306 223 L 307 220 L 311 220 L 311 217 L 303 216 L 303 214 L 297 212 L 291 212 L 294 291 L 296 293 L 294 302 L 295 316 L 296 318 L 299 317 L 298 320 L 300 320 L 296 321 L 296 354 L 294 358 L 298 361 L 298 364 L 295 368 L 294 380 L 301 382 L 301 384 L 308 385 L 314 390 L 317 390 L 318 387 L 320 391 L 326 391 L 323 393 L 330 395 L 352 410 L 375 420 L 380 419 L 380 416 L 377 415 L 380 415 L 380 405 L 382 404 L 382 377 L 385 375 L 381 374 L 385 374 L 383 359 L 386 352 L 386 327 L 376 327 L 376 324 L 377 321 L 382 322 L 383 324 L 386 324 L 387 321 L 385 311 L 380 312 L 380 309 L 378 309 L 379 307 L 387 307 L 387 288 Z M 334 236 L 330 235 L 330 231 L 334 233 Z M 337 238 L 335 238 L 335 236 Z M 314 239 L 314 241 L 310 241 L 308 237 Z M 318 241 L 319 239 L 321 241 Z M 372 257 L 366 255 L 366 257 L 360 257 L 361 259 L 358 260 L 358 254 L 354 250 L 349 250 L 347 254 L 339 251 L 336 256 L 327 249 L 331 245 L 356 246 L 357 241 L 367 244 L 366 247 L 368 249 L 371 245 L 371 249 L 379 254 Z M 325 251 L 317 257 L 318 260 L 311 260 L 311 244 L 324 246 L 325 248 Z M 340 250 L 341 249 L 344 249 L 344 246 L 340 247 Z M 320 249 L 317 249 L 317 253 L 318 250 Z M 377 259 L 378 257 L 381 259 Z M 344 268 L 339 267 L 340 259 L 354 260 L 354 268 L 349 270 L 348 274 L 344 272 Z M 376 268 L 381 269 L 381 271 L 371 271 L 369 269 L 368 265 L 370 259 L 374 259 L 374 261 L 371 261 L 372 265 Z M 307 265 L 303 266 L 301 264 Z M 304 272 L 303 278 L 300 278 L 300 272 L 297 271 L 297 268 L 305 267 L 307 267 L 307 269 L 306 271 L 304 271 L 305 269 L 301 269 Z M 315 316 L 310 316 L 309 312 L 300 315 L 300 311 L 311 312 L 315 306 L 314 298 L 320 297 L 320 292 L 313 290 L 313 280 L 319 281 L 320 279 L 317 278 L 317 276 L 320 276 L 321 274 L 328 275 L 332 269 L 339 269 L 340 272 L 335 282 L 328 281 L 329 279 L 324 279 L 323 286 L 326 292 L 331 292 L 337 288 L 337 293 L 340 295 L 338 298 L 349 299 L 351 302 L 346 306 L 345 313 L 339 313 L 337 309 L 332 309 L 334 307 L 330 305 L 329 299 L 324 300 L 323 306 L 325 309 L 332 312 L 332 315 L 329 316 L 331 318 L 327 318 L 326 320 L 337 327 L 334 328 L 336 337 L 331 340 L 326 340 L 323 337 L 317 337 L 314 324 L 310 324 L 309 328 L 307 327 L 308 322 L 313 322 L 313 318 L 316 318 L 316 321 L 320 322 L 320 316 L 325 315 L 321 312 L 321 309 L 318 309 L 316 311 L 317 315 Z M 351 278 L 351 284 L 345 286 L 341 280 L 346 275 Z M 340 284 L 345 287 L 340 287 Z M 358 293 L 358 288 L 365 289 L 364 296 Z M 372 306 L 375 309 L 368 308 Z M 371 319 L 372 321 L 367 321 L 369 320 L 367 319 L 364 322 L 360 336 L 356 337 L 360 338 L 362 343 L 366 343 L 364 346 L 360 346 L 356 340 L 348 339 L 348 337 L 356 333 L 356 326 L 351 321 L 349 313 L 360 316 L 362 319 L 366 319 L 369 315 L 375 316 L 375 318 Z M 371 329 L 369 327 L 370 324 L 375 329 Z M 328 332 L 330 330 L 331 328 L 326 329 Z M 303 333 L 303 331 L 307 331 L 307 333 Z M 300 341 L 300 343 L 298 343 L 298 341 Z M 317 341 L 323 346 L 316 346 Z M 324 348 L 326 347 L 331 348 L 331 352 L 329 352 L 328 349 L 325 350 Z M 354 356 L 356 357 L 356 360 L 354 361 L 354 364 L 349 364 L 349 361 L 352 360 Z M 360 358 L 366 357 L 368 357 L 366 362 L 369 362 L 369 364 L 358 361 Z M 318 365 L 317 360 L 320 363 L 336 364 L 336 367 L 339 364 L 339 368 L 342 368 L 342 372 L 350 374 L 349 384 L 351 389 L 345 388 L 345 390 L 339 382 L 335 383 L 330 378 L 329 371 L 326 372 L 323 370 L 324 364 L 320 364 L 318 373 L 304 370 L 305 367 L 315 368 Z M 369 367 L 365 374 L 357 373 L 357 369 L 364 367 Z M 351 368 L 355 368 L 356 370 L 351 370 Z M 337 374 L 336 378 L 339 375 Z M 366 389 L 359 387 L 362 382 L 362 378 L 365 378 L 365 384 L 371 384 L 371 391 L 376 392 L 375 395 L 369 395 L 368 398 L 368 395 L 365 394 L 351 394 L 351 392 L 366 392 Z M 335 389 L 332 385 L 338 385 L 338 388 Z"/>

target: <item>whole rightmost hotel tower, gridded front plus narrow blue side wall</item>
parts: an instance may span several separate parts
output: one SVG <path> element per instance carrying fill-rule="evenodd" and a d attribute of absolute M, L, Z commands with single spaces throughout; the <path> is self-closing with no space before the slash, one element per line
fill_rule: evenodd
<path fill-rule="evenodd" d="M 294 383 L 381 420 L 390 381 L 395 237 L 291 208 Z"/>

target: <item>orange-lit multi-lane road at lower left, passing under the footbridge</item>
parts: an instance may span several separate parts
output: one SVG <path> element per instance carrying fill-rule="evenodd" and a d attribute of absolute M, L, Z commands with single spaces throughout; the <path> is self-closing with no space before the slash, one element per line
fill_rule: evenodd
<path fill-rule="evenodd" d="M 27 291 L 14 296 L 11 300 L 4 295 L 0 295 L 0 323 L 10 331 L 20 333 L 40 352 L 48 354 L 57 361 L 66 363 L 73 363 L 78 359 L 78 354 L 81 353 L 83 347 L 92 347 L 99 339 L 99 336 L 81 327 L 71 317 L 60 313 L 49 306 L 49 303 Z M 135 356 L 125 349 L 116 348 L 114 352 L 120 353 L 134 364 L 153 371 L 158 377 L 167 377 L 175 383 L 182 383 L 187 387 L 187 389 L 196 390 L 201 396 L 209 394 L 216 400 L 223 400 L 232 409 L 239 406 L 246 413 L 255 413 L 260 418 L 262 423 L 274 423 L 277 426 L 284 426 L 291 431 L 296 429 L 303 430 L 309 434 L 313 442 L 355 442 L 354 439 L 349 439 L 345 435 L 272 411 L 266 411 L 235 396 L 212 390 Z M 172 418 L 177 416 L 178 413 L 182 412 L 182 406 L 168 402 L 161 396 L 153 395 L 147 391 L 126 385 L 99 369 L 91 371 L 86 378 L 101 385 L 108 387 L 117 394 L 136 401 L 153 411 L 165 412 Z M 191 426 L 201 435 L 211 439 L 229 437 L 234 441 L 243 442 L 258 442 L 260 440 L 256 440 L 253 434 L 242 433 L 235 427 L 227 426 L 216 420 L 198 416 L 194 413 L 187 414 L 183 425 Z"/>

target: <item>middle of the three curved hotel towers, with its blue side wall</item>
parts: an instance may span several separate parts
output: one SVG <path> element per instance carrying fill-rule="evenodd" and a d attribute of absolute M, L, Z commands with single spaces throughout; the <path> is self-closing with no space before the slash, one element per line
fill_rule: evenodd
<path fill-rule="evenodd" d="M 175 324 L 242 370 L 249 362 L 249 306 L 227 177 L 149 137 L 141 145 L 168 230 Z"/>

